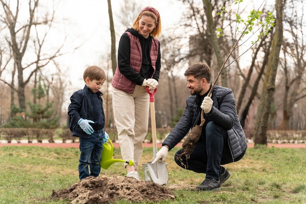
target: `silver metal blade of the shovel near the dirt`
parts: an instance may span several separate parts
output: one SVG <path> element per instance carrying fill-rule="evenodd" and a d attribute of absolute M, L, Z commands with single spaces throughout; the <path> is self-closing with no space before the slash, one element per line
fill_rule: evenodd
<path fill-rule="evenodd" d="M 167 185 L 168 183 L 168 171 L 166 168 L 166 164 L 162 162 L 153 163 L 148 162 L 148 169 L 150 172 L 150 176 L 154 183 L 159 185 Z"/>

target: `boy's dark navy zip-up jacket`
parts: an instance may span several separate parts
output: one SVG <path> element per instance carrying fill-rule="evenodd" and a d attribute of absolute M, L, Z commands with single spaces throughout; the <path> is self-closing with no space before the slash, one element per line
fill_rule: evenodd
<path fill-rule="evenodd" d="M 92 120 L 89 123 L 94 131 L 105 128 L 105 116 L 103 110 L 103 93 L 98 91 L 92 92 L 86 85 L 83 90 L 75 91 L 71 97 L 71 103 L 68 106 L 69 128 L 73 136 L 90 138 L 78 125 L 80 118 Z"/>

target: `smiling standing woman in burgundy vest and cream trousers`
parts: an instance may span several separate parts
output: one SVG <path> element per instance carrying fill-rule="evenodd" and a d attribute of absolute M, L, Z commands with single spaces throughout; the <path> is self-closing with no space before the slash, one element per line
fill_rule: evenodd
<path fill-rule="evenodd" d="M 143 152 L 142 142 L 148 132 L 149 94 L 154 90 L 160 71 L 159 41 L 161 33 L 159 12 L 145 7 L 138 14 L 133 27 L 120 38 L 118 65 L 112 79 L 112 105 L 122 159 L 133 160 L 134 166 L 125 164 L 127 177 L 140 181 L 137 173 Z"/>

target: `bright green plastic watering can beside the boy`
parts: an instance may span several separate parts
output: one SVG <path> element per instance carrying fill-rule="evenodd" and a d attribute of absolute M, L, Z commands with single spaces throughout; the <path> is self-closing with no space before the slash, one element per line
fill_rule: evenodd
<path fill-rule="evenodd" d="M 100 163 L 101 168 L 108 169 L 109 166 L 115 162 L 128 163 L 130 166 L 134 165 L 134 162 L 132 160 L 125 161 L 122 159 L 112 159 L 113 153 L 114 153 L 114 147 L 110 139 L 108 139 L 108 142 L 103 144 L 103 150 L 101 154 L 101 163 Z"/>

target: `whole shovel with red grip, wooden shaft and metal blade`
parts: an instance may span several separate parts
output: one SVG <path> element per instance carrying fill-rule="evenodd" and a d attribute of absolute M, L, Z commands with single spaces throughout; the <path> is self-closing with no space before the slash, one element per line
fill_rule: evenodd
<path fill-rule="evenodd" d="M 156 158 L 156 153 L 157 153 L 154 93 L 156 92 L 157 89 L 151 92 L 149 90 L 149 87 L 146 87 L 146 90 L 150 95 L 150 114 L 151 114 L 153 160 L 154 160 Z M 160 161 L 157 161 L 152 164 L 152 161 L 148 162 L 148 169 L 149 169 L 152 181 L 159 185 L 166 185 L 168 182 L 168 172 L 167 172 L 166 164 Z"/>

